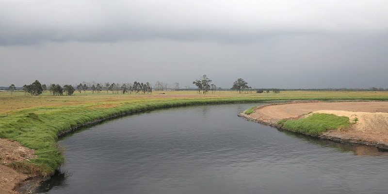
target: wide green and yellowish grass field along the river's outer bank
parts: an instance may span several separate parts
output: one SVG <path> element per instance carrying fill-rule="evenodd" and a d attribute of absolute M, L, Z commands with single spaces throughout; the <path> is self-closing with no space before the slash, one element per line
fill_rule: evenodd
<path fill-rule="evenodd" d="M 88 122 L 144 110 L 176 106 L 260 102 L 269 100 L 388 100 L 387 92 L 244 93 L 221 91 L 199 95 L 195 91 L 143 94 L 111 94 L 91 91 L 74 96 L 25 96 L 24 92 L 0 92 L 0 138 L 12 139 L 35 149 L 37 159 L 8 164 L 37 175 L 52 174 L 64 162 L 57 135 Z M 237 113 L 236 113 L 237 114 Z"/>

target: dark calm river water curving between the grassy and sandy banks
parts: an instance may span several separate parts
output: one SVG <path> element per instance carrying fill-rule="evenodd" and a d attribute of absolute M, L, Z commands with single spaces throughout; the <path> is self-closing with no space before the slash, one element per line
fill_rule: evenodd
<path fill-rule="evenodd" d="M 388 153 L 249 122 L 259 104 L 182 107 L 105 122 L 60 141 L 48 194 L 387 193 Z"/>

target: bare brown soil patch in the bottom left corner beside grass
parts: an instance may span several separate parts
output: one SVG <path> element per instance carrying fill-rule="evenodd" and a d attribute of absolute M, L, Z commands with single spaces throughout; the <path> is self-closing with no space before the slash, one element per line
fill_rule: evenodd
<path fill-rule="evenodd" d="M 0 194 L 18 194 L 15 191 L 19 183 L 32 176 L 15 171 L 6 166 L 11 162 L 28 161 L 36 158 L 33 153 L 35 150 L 21 146 L 19 143 L 0 138 Z M 22 193 L 29 193 L 24 189 Z"/>

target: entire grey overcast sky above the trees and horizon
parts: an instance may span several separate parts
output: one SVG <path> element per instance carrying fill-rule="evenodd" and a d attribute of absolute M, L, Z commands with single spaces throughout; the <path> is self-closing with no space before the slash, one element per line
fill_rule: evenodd
<path fill-rule="evenodd" d="M 388 88 L 388 0 L 1 0 L 0 86 Z"/>

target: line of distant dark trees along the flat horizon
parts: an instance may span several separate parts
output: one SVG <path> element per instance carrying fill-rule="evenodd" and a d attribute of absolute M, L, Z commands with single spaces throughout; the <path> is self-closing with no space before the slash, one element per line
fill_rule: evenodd
<path fill-rule="evenodd" d="M 203 75 L 200 79 L 193 81 L 193 84 L 197 87 L 197 92 L 199 94 L 209 94 L 210 92 L 214 94 L 217 89 L 221 91 L 221 87 L 218 87 L 212 83 L 212 80 L 207 75 Z M 190 86 L 185 86 L 186 90 L 190 89 Z M 16 90 L 20 89 L 16 88 L 14 84 L 11 84 L 7 90 L 11 91 L 12 93 Z M 35 80 L 31 84 L 27 85 L 25 84 L 22 88 L 24 90 L 25 95 L 29 94 L 31 96 L 38 96 L 42 94 L 43 91 L 48 90 L 46 84 L 41 84 L 38 80 Z M 157 81 L 154 85 L 155 91 L 165 91 L 165 90 L 180 90 L 180 85 L 178 82 L 175 82 L 173 84 L 167 84 L 160 81 Z M 132 92 L 135 94 L 152 94 L 153 88 L 151 87 L 151 84 L 149 82 L 143 83 L 143 82 L 137 82 L 134 81 L 133 83 L 109 83 L 106 82 L 104 84 L 102 83 L 96 83 L 93 82 L 81 82 L 76 87 L 73 87 L 72 85 L 65 84 L 63 87 L 59 84 L 49 84 L 49 92 L 51 95 L 54 96 L 62 96 L 62 95 L 73 95 L 75 91 L 78 91 L 81 93 L 82 91 L 86 93 L 87 90 L 92 91 L 93 93 L 97 92 L 100 93 L 103 90 L 105 90 L 107 93 L 109 91 L 112 92 L 112 94 L 118 94 L 118 93 L 129 93 Z M 273 93 L 280 93 L 280 91 L 388 91 L 384 88 L 376 88 L 371 87 L 369 89 L 361 89 L 361 88 L 324 88 L 324 89 L 277 89 L 277 88 L 261 88 L 261 89 L 252 89 L 252 87 L 248 86 L 248 83 L 244 81 L 242 78 L 237 79 L 233 82 L 232 87 L 230 90 L 235 90 L 238 93 L 241 93 L 244 90 L 249 90 L 249 93 L 257 92 L 257 93 L 269 93 L 272 91 Z M 2 90 L 1 90 L 2 91 Z"/>

